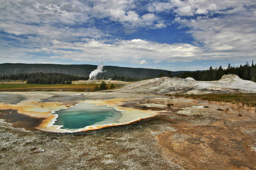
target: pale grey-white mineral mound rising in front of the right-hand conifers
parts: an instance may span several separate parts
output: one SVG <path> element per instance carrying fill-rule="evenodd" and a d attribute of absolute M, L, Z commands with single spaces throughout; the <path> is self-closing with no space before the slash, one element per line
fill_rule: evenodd
<path fill-rule="evenodd" d="M 109 90 L 110 92 L 110 90 Z M 236 75 L 223 75 L 218 81 L 196 81 L 193 78 L 153 78 L 125 85 L 111 92 L 144 94 L 256 93 L 256 83 Z"/>

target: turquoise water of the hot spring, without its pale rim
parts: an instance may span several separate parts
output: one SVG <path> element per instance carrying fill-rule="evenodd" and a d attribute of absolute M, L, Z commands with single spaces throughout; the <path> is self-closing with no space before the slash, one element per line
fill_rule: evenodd
<path fill-rule="evenodd" d="M 122 113 L 112 107 L 93 106 L 79 103 L 77 106 L 56 111 L 58 115 L 54 125 L 63 125 L 60 129 L 81 129 L 86 126 L 103 125 L 116 122 Z"/>

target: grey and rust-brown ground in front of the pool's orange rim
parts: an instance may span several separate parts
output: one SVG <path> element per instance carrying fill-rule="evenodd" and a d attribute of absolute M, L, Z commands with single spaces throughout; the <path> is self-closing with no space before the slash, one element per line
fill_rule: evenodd
<path fill-rule="evenodd" d="M 217 111 L 227 106 L 227 113 Z M 158 109 L 138 122 L 76 133 L 26 130 L 1 119 L 0 169 L 256 169 L 254 108 L 239 108 L 241 117 L 232 104 L 177 98 Z"/>

